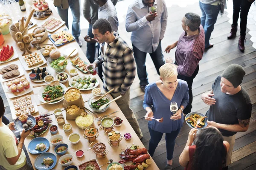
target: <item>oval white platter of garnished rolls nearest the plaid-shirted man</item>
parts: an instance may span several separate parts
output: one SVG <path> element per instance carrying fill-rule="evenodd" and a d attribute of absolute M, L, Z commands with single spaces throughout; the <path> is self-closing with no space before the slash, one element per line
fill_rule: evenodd
<path fill-rule="evenodd" d="M 87 80 L 85 80 L 86 79 L 86 77 L 87 77 L 87 79 L 88 79 L 88 77 L 89 77 L 89 79 L 88 79 L 88 81 Z M 93 85 L 93 87 L 92 88 L 90 88 L 90 85 L 87 87 L 87 88 L 78 88 L 79 87 L 79 85 L 78 86 L 75 86 L 76 84 L 73 84 L 73 82 L 75 81 L 76 83 L 79 83 L 80 82 L 80 80 L 79 79 L 81 79 L 81 80 L 83 80 L 83 82 L 81 82 L 81 83 L 79 83 L 79 84 L 82 84 L 82 85 L 84 85 L 84 84 L 87 84 L 88 85 L 88 83 L 85 83 L 85 82 L 90 82 L 90 78 L 95 78 L 95 83 L 93 83 L 94 85 Z M 77 79 L 77 80 L 76 80 Z M 87 90 L 92 90 L 93 88 L 96 88 L 98 85 L 99 85 L 99 80 L 96 78 L 96 77 L 94 77 L 94 76 L 91 76 L 91 75 L 82 75 L 82 76 L 79 76 L 79 75 L 77 75 L 77 76 L 75 76 L 75 77 L 72 77 L 70 80 L 69 80 L 69 85 L 70 85 L 70 87 L 76 87 L 76 88 L 78 88 L 79 90 L 81 90 L 81 91 L 87 91 Z"/>

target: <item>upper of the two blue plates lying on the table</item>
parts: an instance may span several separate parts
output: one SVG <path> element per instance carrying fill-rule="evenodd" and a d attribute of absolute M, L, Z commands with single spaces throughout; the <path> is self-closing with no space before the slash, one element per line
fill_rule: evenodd
<path fill-rule="evenodd" d="M 45 146 L 46 146 L 46 149 L 44 149 L 44 150 L 36 150 L 35 149 L 36 145 L 40 144 L 40 143 L 44 143 Z M 29 142 L 28 150 L 29 150 L 29 153 L 39 154 L 39 153 L 46 152 L 49 149 L 49 147 L 50 147 L 50 142 L 46 138 L 37 137 L 37 138 L 32 139 L 32 141 Z"/>

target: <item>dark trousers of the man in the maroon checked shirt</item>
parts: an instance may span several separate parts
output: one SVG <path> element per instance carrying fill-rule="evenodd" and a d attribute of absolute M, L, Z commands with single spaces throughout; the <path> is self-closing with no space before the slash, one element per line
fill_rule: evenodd
<path fill-rule="evenodd" d="M 177 65 L 176 62 L 175 62 L 175 64 Z M 192 84 L 193 84 L 193 79 L 198 74 L 198 71 L 199 71 L 199 65 L 197 66 L 197 68 L 195 69 L 195 71 L 191 77 L 186 77 L 181 74 L 178 74 L 178 77 L 177 77 L 178 79 L 182 79 L 182 80 L 186 81 L 188 83 L 188 87 L 189 87 L 189 103 L 183 111 L 184 114 L 190 113 L 191 109 L 192 109 L 192 102 L 193 102 Z"/>

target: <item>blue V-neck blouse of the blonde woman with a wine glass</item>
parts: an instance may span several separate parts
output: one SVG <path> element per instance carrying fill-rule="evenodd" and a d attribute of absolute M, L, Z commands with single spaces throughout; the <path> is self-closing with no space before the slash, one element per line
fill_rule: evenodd
<path fill-rule="evenodd" d="M 180 108 L 181 105 L 186 108 L 186 105 L 189 103 L 189 88 L 186 81 L 178 79 L 178 85 L 173 94 L 172 100 L 169 100 L 164 96 L 156 83 L 151 83 L 145 87 L 143 108 L 152 108 L 155 119 L 161 119 L 163 117 L 162 123 L 157 122 L 154 119 L 152 119 L 152 121 L 148 121 L 148 127 L 161 133 L 171 133 L 183 126 L 183 114 L 181 119 L 175 121 L 170 119 L 173 114 L 170 111 L 171 102 L 176 102 L 178 108 Z"/>

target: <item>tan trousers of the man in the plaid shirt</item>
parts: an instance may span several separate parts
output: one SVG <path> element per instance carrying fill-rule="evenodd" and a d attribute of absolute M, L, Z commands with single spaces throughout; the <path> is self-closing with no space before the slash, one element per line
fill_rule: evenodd
<path fill-rule="evenodd" d="M 135 117 L 134 111 L 131 110 L 131 108 L 130 108 L 130 89 L 128 89 L 125 92 L 125 94 L 111 93 L 111 96 L 113 97 L 113 99 L 115 99 L 116 97 L 118 97 L 120 95 L 122 97 L 120 99 L 116 100 L 116 104 L 118 105 L 118 107 L 120 108 L 122 113 L 124 113 L 126 119 L 130 123 L 131 127 L 134 129 L 137 136 L 141 139 L 143 137 L 143 134 L 140 130 L 139 122 Z"/>

